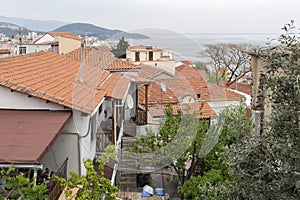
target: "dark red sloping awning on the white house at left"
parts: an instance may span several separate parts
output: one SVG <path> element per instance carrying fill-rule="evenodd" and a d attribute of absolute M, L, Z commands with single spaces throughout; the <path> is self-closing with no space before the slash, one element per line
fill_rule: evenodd
<path fill-rule="evenodd" d="M 65 111 L 0 110 L 0 163 L 39 164 L 70 116 Z"/>

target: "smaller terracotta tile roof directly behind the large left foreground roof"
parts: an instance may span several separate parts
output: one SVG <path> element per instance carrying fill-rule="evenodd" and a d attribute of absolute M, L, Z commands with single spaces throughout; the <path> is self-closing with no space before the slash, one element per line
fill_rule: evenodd
<path fill-rule="evenodd" d="M 80 62 L 81 49 L 75 49 L 65 54 L 66 57 Z M 139 67 L 126 61 L 115 58 L 107 46 L 87 47 L 84 49 L 84 62 L 108 71 L 135 70 Z"/>

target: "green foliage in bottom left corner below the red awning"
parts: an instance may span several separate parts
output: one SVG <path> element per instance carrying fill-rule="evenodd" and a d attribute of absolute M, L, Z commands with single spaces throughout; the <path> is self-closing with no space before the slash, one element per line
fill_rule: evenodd
<path fill-rule="evenodd" d="M 0 197 L 0 199 L 26 199 L 26 200 L 47 200 L 47 185 L 35 185 L 35 180 L 26 178 L 23 173 L 19 173 L 16 176 L 11 176 L 11 172 L 15 169 L 10 167 L 8 170 L 2 170 L 1 176 L 6 180 L 5 188 L 8 190 L 6 197 Z"/>

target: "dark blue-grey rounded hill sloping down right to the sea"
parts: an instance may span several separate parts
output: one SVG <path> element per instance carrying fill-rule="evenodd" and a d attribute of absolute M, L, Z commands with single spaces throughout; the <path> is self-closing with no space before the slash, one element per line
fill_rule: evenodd
<path fill-rule="evenodd" d="M 121 37 L 125 38 L 133 38 L 133 39 L 144 39 L 148 38 L 145 35 L 138 33 L 127 33 L 121 30 L 111 30 L 102 28 L 99 26 L 95 26 L 93 24 L 88 23 L 72 23 L 67 24 L 62 27 L 55 29 L 56 32 L 72 32 L 76 35 L 80 35 L 81 37 L 87 36 L 95 36 L 100 40 L 106 39 L 119 39 Z"/>

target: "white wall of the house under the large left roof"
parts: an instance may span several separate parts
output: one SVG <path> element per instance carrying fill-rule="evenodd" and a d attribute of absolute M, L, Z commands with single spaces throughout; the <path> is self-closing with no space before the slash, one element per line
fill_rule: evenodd
<path fill-rule="evenodd" d="M 3 86 L 0 86 L 0 95 L 2 97 L 0 98 L 1 109 L 71 110 L 65 109 L 63 106 L 55 103 L 47 103 L 45 100 L 39 98 L 29 98 L 28 95 L 20 92 L 11 92 L 10 89 Z M 102 117 L 98 112 L 99 110 L 91 118 L 90 115 L 73 110 L 72 117 L 64 126 L 54 145 L 43 158 L 42 163 L 45 166 L 49 166 L 52 170 L 57 170 L 66 157 L 69 157 L 68 171 L 76 173 L 81 171 L 82 174 L 85 174 L 82 160 L 84 158 L 93 159 L 95 157 L 96 131 L 100 125 L 100 121 L 104 118 L 104 114 Z M 78 164 L 79 159 L 81 160 L 80 166 Z"/>

